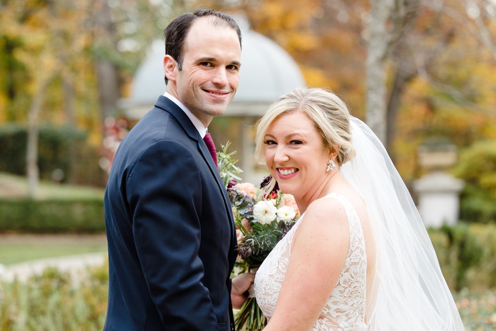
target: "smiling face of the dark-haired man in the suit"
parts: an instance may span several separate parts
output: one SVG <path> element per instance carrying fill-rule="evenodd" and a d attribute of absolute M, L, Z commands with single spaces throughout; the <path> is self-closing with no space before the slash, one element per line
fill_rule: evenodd
<path fill-rule="evenodd" d="M 186 34 L 182 70 L 176 66 L 170 79 L 176 97 L 205 126 L 226 111 L 238 89 L 241 66 L 238 34 L 210 19 L 193 23 Z"/>

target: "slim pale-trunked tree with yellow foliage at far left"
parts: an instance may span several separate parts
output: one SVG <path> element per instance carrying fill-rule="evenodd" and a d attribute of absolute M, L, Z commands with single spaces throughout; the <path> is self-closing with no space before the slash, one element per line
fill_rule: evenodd
<path fill-rule="evenodd" d="M 69 52 L 80 39 L 75 33 L 76 13 L 71 11 L 72 4 L 62 1 L 46 4 L 29 2 L 26 6 L 19 10 L 16 3 L 2 5 L 1 25 L 4 40 L 19 40 L 15 61 L 21 63 L 27 73 L 24 88 L 31 101 L 27 111 L 26 172 L 28 194 L 34 196 L 39 177 L 38 125 L 47 88 L 62 72 L 70 77 Z M 68 43 L 69 40 L 71 43 Z"/>

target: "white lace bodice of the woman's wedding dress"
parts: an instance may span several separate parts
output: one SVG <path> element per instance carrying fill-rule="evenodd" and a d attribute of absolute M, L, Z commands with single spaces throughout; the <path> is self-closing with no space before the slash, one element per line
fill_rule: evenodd
<path fill-rule="evenodd" d="M 312 331 L 365 331 L 365 296 L 367 256 L 362 225 L 353 205 L 339 194 L 324 197 L 340 201 L 346 210 L 350 227 L 350 246 L 345 264 L 322 313 Z M 263 314 L 270 319 L 291 258 L 291 243 L 304 219 L 303 214 L 286 236 L 277 243 L 255 276 L 255 297 Z M 331 215 L 329 217 L 332 217 Z"/>

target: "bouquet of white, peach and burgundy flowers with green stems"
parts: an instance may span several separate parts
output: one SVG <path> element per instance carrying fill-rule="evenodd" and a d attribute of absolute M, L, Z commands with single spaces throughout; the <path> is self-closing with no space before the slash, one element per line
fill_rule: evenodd
<path fill-rule="evenodd" d="M 227 153 L 227 147 L 217 153 L 219 172 L 231 200 L 236 235 L 238 237 L 238 273 L 254 272 L 272 251 L 279 240 L 293 227 L 300 212 L 295 199 L 285 195 L 276 186 L 269 194 L 262 189 L 269 182 L 265 178 L 259 188 L 251 183 L 236 184 L 242 170 L 235 166 L 232 159 L 235 152 Z M 252 290 L 248 300 L 236 316 L 236 330 L 258 331 L 267 324 L 258 307 Z"/>

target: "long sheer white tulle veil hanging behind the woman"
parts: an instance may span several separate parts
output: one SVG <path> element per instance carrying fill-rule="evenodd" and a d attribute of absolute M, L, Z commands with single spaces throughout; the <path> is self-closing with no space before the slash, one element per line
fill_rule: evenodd
<path fill-rule="evenodd" d="M 350 117 L 356 156 L 343 177 L 366 202 L 376 267 L 368 298 L 370 331 L 463 330 L 425 225 L 403 180 L 372 130 Z"/>

